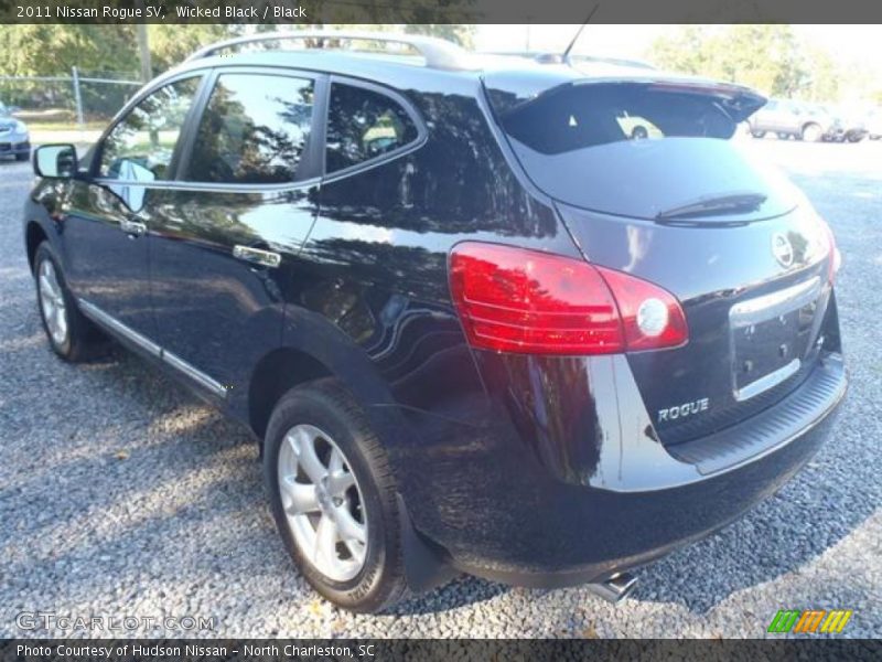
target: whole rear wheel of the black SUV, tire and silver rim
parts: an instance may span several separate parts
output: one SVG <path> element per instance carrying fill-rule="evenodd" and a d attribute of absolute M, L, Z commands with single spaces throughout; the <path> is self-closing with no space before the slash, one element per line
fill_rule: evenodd
<path fill-rule="evenodd" d="M 338 382 L 311 382 L 279 401 L 263 476 L 282 541 L 316 591 L 361 612 L 401 599 L 395 480 L 364 412 Z"/>

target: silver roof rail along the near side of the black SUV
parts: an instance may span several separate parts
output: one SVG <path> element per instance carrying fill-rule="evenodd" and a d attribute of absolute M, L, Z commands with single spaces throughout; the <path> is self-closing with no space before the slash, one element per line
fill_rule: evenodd
<path fill-rule="evenodd" d="M 420 34 L 394 34 L 389 32 L 367 31 L 337 31 L 337 30 L 295 30 L 292 32 L 263 32 L 228 39 L 204 46 L 186 58 L 187 62 L 209 57 L 234 46 L 272 41 L 294 41 L 308 39 L 335 39 L 341 41 L 375 41 L 383 43 L 398 43 L 411 46 L 426 60 L 426 66 L 441 70 L 474 70 L 476 68 L 471 54 L 461 46 Z"/>

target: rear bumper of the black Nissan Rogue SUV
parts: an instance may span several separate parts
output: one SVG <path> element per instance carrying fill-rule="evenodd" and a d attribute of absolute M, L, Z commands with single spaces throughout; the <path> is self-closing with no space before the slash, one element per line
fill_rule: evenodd
<path fill-rule="evenodd" d="M 718 436 L 703 453 L 693 445 L 675 457 L 656 442 L 658 452 L 641 459 L 648 446 L 607 436 L 593 473 L 567 481 L 496 428 L 447 438 L 419 470 L 412 457 L 402 494 L 416 530 L 462 572 L 533 587 L 600 581 L 707 536 L 786 483 L 822 445 L 846 391 L 838 355 L 816 372 L 766 418 L 730 435 L 740 450 L 714 452 Z"/>

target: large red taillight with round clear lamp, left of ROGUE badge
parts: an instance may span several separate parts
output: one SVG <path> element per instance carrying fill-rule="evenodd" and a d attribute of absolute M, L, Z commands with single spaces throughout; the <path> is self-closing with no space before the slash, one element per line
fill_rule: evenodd
<path fill-rule="evenodd" d="M 580 259 L 464 242 L 450 289 L 469 343 L 529 354 L 612 354 L 681 345 L 686 318 L 666 290 Z"/>

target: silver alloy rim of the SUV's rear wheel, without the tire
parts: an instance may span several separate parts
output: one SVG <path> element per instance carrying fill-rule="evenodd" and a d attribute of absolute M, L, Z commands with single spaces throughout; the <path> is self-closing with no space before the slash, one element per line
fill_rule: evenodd
<path fill-rule="evenodd" d="M 367 514 L 358 481 L 334 440 L 297 425 L 279 449 L 279 491 L 302 556 L 333 581 L 348 581 L 367 556 Z"/>

